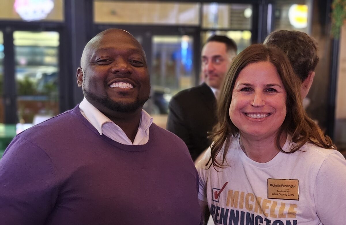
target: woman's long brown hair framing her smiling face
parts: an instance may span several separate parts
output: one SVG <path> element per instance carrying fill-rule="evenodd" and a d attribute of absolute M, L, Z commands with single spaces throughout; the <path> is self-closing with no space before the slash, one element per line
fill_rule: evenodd
<path fill-rule="evenodd" d="M 215 132 L 211 134 L 211 156 L 206 166 L 224 168 L 226 155 L 232 138 L 238 135 L 238 128 L 232 123 L 229 117 L 229 106 L 232 100 L 232 93 L 236 79 L 245 66 L 250 63 L 268 61 L 272 63 L 287 93 L 286 110 L 287 114 L 283 124 L 279 128 L 276 136 L 276 146 L 284 153 L 293 153 L 299 150 L 305 143 L 310 142 L 316 146 L 336 149 L 331 139 L 324 135 L 322 130 L 310 119 L 302 106 L 300 98 L 301 81 L 294 74 L 290 62 L 285 54 L 278 48 L 267 47 L 262 44 L 255 44 L 247 47 L 238 56 L 235 57 L 227 75 L 224 85 L 222 86 L 220 98 L 218 100 L 218 124 Z M 256 74 L 253 74 L 254 76 Z M 283 133 L 287 133 L 292 137 L 293 147 L 290 152 L 285 152 L 280 146 L 280 137 Z M 220 160 L 217 155 L 224 148 Z M 210 161 L 212 162 L 211 164 Z"/>

